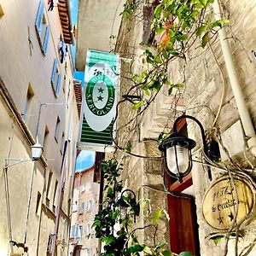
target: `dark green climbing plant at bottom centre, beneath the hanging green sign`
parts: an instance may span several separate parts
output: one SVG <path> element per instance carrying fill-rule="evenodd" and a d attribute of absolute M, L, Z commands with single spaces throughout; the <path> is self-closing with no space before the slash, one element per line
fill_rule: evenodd
<path fill-rule="evenodd" d="M 153 256 L 192 256 L 189 252 L 172 253 L 166 248 L 166 242 L 149 247 L 138 241 L 137 232 L 148 227 L 156 229 L 161 211 L 157 209 L 153 215 L 146 211 L 148 218 L 152 219 L 152 224 L 132 229 L 134 217 L 138 215 L 140 206 L 136 199 L 128 194 L 122 197 L 127 204 L 125 212 L 119 207 L 119 194 L 124 189 L 123 182 L 119 180 L 121 170 L 122 165 L 119 165 L 115 159 L 102 162 L 102 172 L 106 180 L 105 200 L 92 225 L 96 231 L 96 238 L 103 242 L 103 252 L 100 255 L 138 256 L 141 255 L 140 253 L 144 253 L 144 255 Z M 145 205 L 145 201 L 143 201 L 142 209 Z"/>

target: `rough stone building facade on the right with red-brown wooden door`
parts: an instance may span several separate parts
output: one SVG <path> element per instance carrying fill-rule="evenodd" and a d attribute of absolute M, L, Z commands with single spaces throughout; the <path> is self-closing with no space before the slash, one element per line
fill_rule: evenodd
<path fill-rule="evenodd" d="M 202 4 L 202 1 L 195 2 Z M 212 1 L 204 1 L 204 3 L 207 2 Z M 220 10 L 216 7 L 218 2 Z M 156 241 L 167 241 L 174 253 L 189 250 L 195 255 L 209 255 L 210 253 L 236 255 L 238 251 L 241 255 L 254 255 L 254 200 L 250 206 L 251 212 L 248 214 L 252 217 L 249 219 L 249 225 L 241 227 L 244 239 L 230 239 L 229 243 L 227 239 L 220 239 L 216 246 L 209 237 L 212 233 L 225 237 L 227 230 L 214 228 L 207 224 L 207 218 L 203 214 L 204 196 L 207 190 L 211 189 L 218 181 L 218 177 L 227 173 L 228 170 L 232 172 L 232 175 L 236 172 L 243 173 L 242 175 L 250 180 L 253 187 L 252 194 L 255 194 L 253 181 L 256 115 L 256 88 L 253 84 L 256 40 L 253 35 L 255 3 L 254 1 L 233 1 L 230 4 L 225 0 L 218 2 L 215 1 L 213 5 L 209 5 L 207 14 L 215 15 L 213 20 L 227 18 L 229 24 L 223 29 L 219 29 L 220 27 L 216 29 L 214 37 L 212 36 L 214 40 L 211 46 L 207 44 L 205 49 L 201 49 L 200 37 L 195 38 L 196 44 L 191 46 L 181 58 L 168 65 L 168 79 L 171 83 L 184 83 L 186 86 L 171 92 L 168 87 L 162 87 L 143 113 L 140 112 L 141 108 L 131 109 L 134 106 L 132 103 L 136 103 L 134 96 L 137 96 L 137 99 L 145 96 L 137 87 L 137 90 L 131 89 L 135 88 L 134 75 L 142 73 L 143 69 L 150 66 L 147 63 L 147 52 L 145 54 L 147 49 L 157 54 L 155 46 L 170 40 L 168 37 L 171 34 L 165 34 L 165 28 L 160 32 L 159 37 L 152 38 L 150 20 L 154 17 L 154 9 L 158 4 L 171 3 L 171 1 L 138 1 L 137 9 L 135 14 L 131 15 L 131 19 L 123 17 L 114 51 L 120 55 L 121 59 L 119 94 L 122 99 L 126 96 L 126 99 L 130 101 L 123 100 L 119 104 L 116 131 L 116 143 L 119 148 L 114 156 L 124 164 L 121 178 L 125 185 L 132 189 L 140 200 L 148 199 L 152 208 L 161 208 L 170 214 L 170 220 L 164 214 L 160 218 Z M 159 10 L 160 8 L 158 12 Z M 170 10 L 172 10 L 172 4 Z M 179 15 L 182 16 L 182 13 L 180 9 Z M 220 13 L 222 17 L 219 16 Z M 172 15 L 168 17 L 169 21 L 173 22 Z M 82 19 L 80 22 L 83 24 Z M 227 22 L 227 20 L 222 20 L 222 22 Z M 221 34 L 224 30 L 226 35 Z M 83 37 L 82 33 L 80 37 Z M 84 38 L 87 39 L 87 37 Z M 228 42 L 229 46 L 224 46 L 224 42 Z M 227 54 L 227 51 L 230 53 Z M 228 58 L 227 55 L 229 55 Z M 150 59 L 150 55 L 148 58 Z M 80 58 L 80 61 L 84 61 L 83 58 Z M 233 66 L 231 71 L 230 66 Z M 236 77 L 235 84 L 239 84 L 235 86 L 236 90 L 234 90 L 234 77 Z M 240 96 L 237 96 L 237 87 L 239 87 Z M 241 105 L 243 111 L 241 111 Z M 183 114 L 199 119 L 203 130 L 208 131 L 207 138 L 214 138 L 218 141 L 220 162 L 226 168 L 212 167 L 212 181 L 208 177 L 206 163 L 198 154 L 201 150 L 200 129 L 189 119 L 179 122 L 177 130 L 194 138 L 198 145 L 193 156 L 192 172 L 183 179 L 183 183 L 179 183 L 169 177 L 163 167 L 163 156 L 158 150 L 157 138 L 161 131 L 172 131 L 175 119 Z M 246 119 L 245 116 L 247 116 Z M 125 150 L 121 150 L 122 148 Z M 131 151 L 131 154 L 127 154 L 127 151 Z M 229 152 L 228 156 L 225 152 Z M 134 154 L 143 157 L 134 157 Z M 236 200 L 236 204 L 239 204 L 239 200 Z M 232 222 L 234 209 L 227 208 L 230 210 L 230 215 L 226 216 L 226 219 Z M 212 212 L 215 210 L 212 207 Z M 224 219 L 220 215 L 221 212 L 218 213 L 220 225 Z M 243 218 L 246 218 L 246 215 L 244 214 Z M 141 212 L 137 225 L 147 224 L 148 220 Z M 142 242 L 153 246 L 154 230 L 143 230 L 139 238 Z"/>

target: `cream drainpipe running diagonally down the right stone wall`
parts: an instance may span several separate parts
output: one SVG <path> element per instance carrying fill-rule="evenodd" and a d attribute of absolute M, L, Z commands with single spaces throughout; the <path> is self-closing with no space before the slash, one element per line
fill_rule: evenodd
<path fill-rule="evenodd" d="M 213 3 L 213 10 L 216 20 L 221 20 L 221 11 L 219 8 L 218 0 L 215 0 Z M 241 84 L 239 82 L 236 68 L 234 65 L 234 61 L 232 59 L 232 54 L 230 51 L 230 44 L 227 40 L 227 35 L 224 28 L 218 30 L 218 37 L 220 41 L 220 45 L 222 48 L 222 52 L 224 55 L 225 65 L 228 71 L 228 75 L 230 78 L 231 88 L 233 90 L 233 94 L 236 100 L 236 106 L 238 108 L 238 113 L 240 115 L 241 124 L 243 126 L 243 130 L 245 132 L 246 137 L 248 137 L 247 144 L 251 153 L 256 156 L 256 134 L 253 128 L 253 122 L 250 118 L 250 114 L 247 109 L 247 105 L 244 99 L 244 95 L 241 90 Z"/>

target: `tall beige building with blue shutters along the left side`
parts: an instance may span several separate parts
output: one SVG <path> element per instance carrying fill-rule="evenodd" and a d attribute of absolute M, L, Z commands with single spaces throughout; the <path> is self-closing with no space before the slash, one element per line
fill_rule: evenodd
<path fill-rule="evenodd" d="M 1 1 L 0 41 L 0 254 L 67 255 L 81 95 L 69 1 Z"/>

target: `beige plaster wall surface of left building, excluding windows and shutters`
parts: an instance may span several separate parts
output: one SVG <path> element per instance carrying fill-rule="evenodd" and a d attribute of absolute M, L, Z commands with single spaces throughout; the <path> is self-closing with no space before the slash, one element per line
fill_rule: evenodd
<path fill-rule="evenodd" d="M 31 157 L 31 143 L 27 139 L 27 132 L 35 141 L 38 125 L 38 140 L 43 144 L 44 129 L 49 129 L 47 142 L 44 143 L 44 162 L 26 162 L 9 167 L 9 202 L 12 223 L 12 239 L 24 242 L 26 230 L 26 214 L 30 195 L 32 172 L 32 194 L 27 221 L 26 246 L 30 255 L 45 255 L 49 235 L 55 230 L 55 214 L 59 203 L 61 188 L 61 160 L 63 157 L 63 143 L 61 135 L 64 132 L 63 142 L 67 139 L 70 122 L 73 130 L 67 145 L 67 158 L 64 166 L 65 177 L 62 190 L 61 219 L 58 239 L 65 239 L 64 247 L 57 246 L 57 255 L 67 255 L 67 237 L 62 237 L 64 220 L 67 221 L 67 235 L 69 232 L 69 208 L 72 196 L 73 171 L 76 158 L 76 142 L 79 129 L 79 116 L 73 90 L 73 60 L 68 49 L 66 59 L 60 63 L 58 43 L 61 37 L 61 23 L 58 9 L 47 11 L 48 1 L 44 1 L 44 14 L 50 26 L 47 53 L 44 56 L 38 44 L 35 30 L 35 19 L 38 12 L 39 0 L 27 3 L 26 1 L 1 1 L 3 15 L 0 15 L 0 78 L 3 87 L 13 101 L 13 107 L 19 116 L 24 113 L 28 86 L 32 87 L 31 110 L 24 120 L 28 131 L 20 129 L 17 119 L 9 112 L 9 107 L 0 96 L 0 163 L 4 166 L 4 159 L 8 157 L 29 159 Z M 62 37 L 63 38 L 63 37 Z M 30 52 L 31 40 L 32 49 Z M 58 58 L 58 69 L 61 72 L 60 95 L 55 97 L 50 84 L 51 72 L 55 58 Z M 64 74 L 66 80 L 64 79 Z M 3 86 L 3 87 L 2 87 Z M 40 104 L 42 107 L 38 121 Z M 57 116 L 61 119 L 59 137 L 55 140 L 55 125 Z M 9 154 L 10 151 L 10 154 Z M 49 172 L 53 172 L 49 184 L 49 198 L 46 198 L 46 189 L 49 182 Z M 55 182 L 58 185 L 55 189 Z M 0 220 L 0 254 L 7 252 L 22 253 L 18 247 L 9 247 L 8 219 L 4 190 L 4 176 L 0 177 L 0 209 L 3 214 Z M 38 192 L 41 199 L 36 212 Z M 55 194 L 55 195 L 54 195 Z"/>

